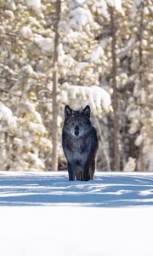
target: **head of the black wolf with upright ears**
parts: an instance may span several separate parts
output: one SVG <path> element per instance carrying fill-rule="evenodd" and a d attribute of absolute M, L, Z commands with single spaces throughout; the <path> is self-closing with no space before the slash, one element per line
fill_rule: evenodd
<path fill-rule="evenodd" d="M 72 110 L 65 106 L 65 129 L 71 132 L 73 137 L 82 137 L 90 127 L 90 107 L 86 106 L 82 110 Z"/>

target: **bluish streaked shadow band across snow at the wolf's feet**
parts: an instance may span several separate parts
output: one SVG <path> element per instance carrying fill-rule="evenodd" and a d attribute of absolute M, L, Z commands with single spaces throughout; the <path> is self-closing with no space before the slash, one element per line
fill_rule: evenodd
<path fill-rule="evenodd" d="M 50 172 L 51 173 L 51 172 Z M 132 207 L 153 205 L 153 174 L 96 174 L 69 182 L 67 174 L 0 174 L 0 206 Z"/>

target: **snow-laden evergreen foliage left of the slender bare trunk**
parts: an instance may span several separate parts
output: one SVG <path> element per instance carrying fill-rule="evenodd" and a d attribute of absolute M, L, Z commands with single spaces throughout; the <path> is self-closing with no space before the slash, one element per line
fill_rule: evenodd
<path fill-rule="evenodd" d="M 40 55 L 43 63 L 48 58 L 44 45 L 48 38 L 40 35 L 44 33 L 43 15 L 40 6 L 33 5 L 29 7 L 20 1 L 0 3 L 3 13 L 0 18 L 0 119 L 3 124 L 0 165 L 3 170 L 45 170 L 45 154 L 52 148 L 37 101 L 37 88 L 46 84 L 39 61 Z"/>

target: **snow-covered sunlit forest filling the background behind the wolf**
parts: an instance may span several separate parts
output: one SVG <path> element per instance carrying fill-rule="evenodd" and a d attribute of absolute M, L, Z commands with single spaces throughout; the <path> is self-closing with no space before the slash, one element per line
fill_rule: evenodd
<path fill-rule="evenodd" d="M 66 170 L 64 108 L 92 110 L 97 170 L 153 171 L 153 1 L 0 1 L 0 170 Z"/>

